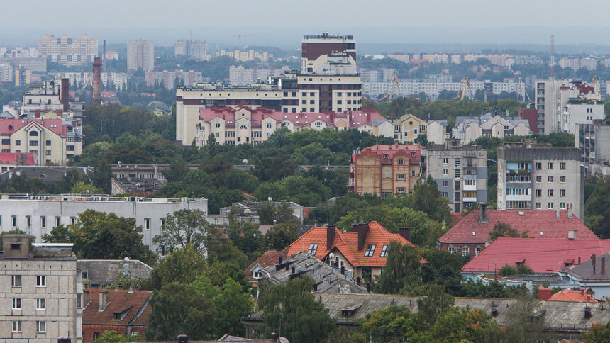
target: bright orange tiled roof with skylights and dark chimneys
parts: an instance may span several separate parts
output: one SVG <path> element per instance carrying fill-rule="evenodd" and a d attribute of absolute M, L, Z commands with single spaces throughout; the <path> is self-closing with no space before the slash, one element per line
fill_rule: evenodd
<path fill-rule="evenodd" d="M 384 245 L 389 245 L 391 241 L 398 241 L 401 244 L 411 244 L 406 238 L 397 233 L 390 233 L 382 225 L 373 221 L 368 224 L 369 230 L 365 243 L 361 250 L 358 250 L 358 232 L 342 232 L 335 228 L 335 238 L 330 249 L 326 249 L 326 227 L 312 227 L 298 240 L 290 244 L 288 256 L 292 256 L 297 252 L 308 252 L 310 244 L 318 244 L 318 249 L 314 256 L 323 260 L 329 253 L 337 249 L 345 259 L 354 267 L 359 266 L 385 266 L 386 258 L 381 257 L 382 248 Z M 374 244 L 375 252 L 372 257 L 365 257 L 365 249 L 367 245 Z M 422 263 L 426 260 L 421 259 Z"/>

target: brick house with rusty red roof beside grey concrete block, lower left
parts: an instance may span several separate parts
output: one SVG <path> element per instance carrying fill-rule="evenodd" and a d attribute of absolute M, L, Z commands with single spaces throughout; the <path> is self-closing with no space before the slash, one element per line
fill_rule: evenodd
<path fill-rule="evenodd" d="M 148 326 L 152 291 L 128 291 L 87 288 L 83 291 L 82 310 L 83 343 L 93 342 L 104 331 L 115 330 L 126 337 L 138 332 L 144 337 Z"/>

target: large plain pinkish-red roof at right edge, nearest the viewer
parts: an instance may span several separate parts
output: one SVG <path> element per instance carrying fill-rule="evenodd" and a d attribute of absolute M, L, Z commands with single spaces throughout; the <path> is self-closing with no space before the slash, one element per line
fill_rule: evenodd
<path fill-rule="evenodd" d="M 536 273 L 553 273 L 566 265 L 586 261 L 591 254 L 610 252 L 610 240 L 570 240 L 568 238 L 507 238 L 501 237 L 462 267 L 468 273 L 489 273 L 505 264 L 523 262 Z"/>

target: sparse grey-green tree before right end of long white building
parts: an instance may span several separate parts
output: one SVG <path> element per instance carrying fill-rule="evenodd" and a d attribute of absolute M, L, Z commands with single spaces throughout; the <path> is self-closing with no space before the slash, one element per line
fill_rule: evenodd
<path fill-rule="evenodd" d="M 192 246 L 196 250 L 208 248 L 215 231 L 206 220 L 201 210 L 177 210 L 165 217 L 161 232 L 153 238 L 155 244 L 165 249 L 186 249 Z"/>

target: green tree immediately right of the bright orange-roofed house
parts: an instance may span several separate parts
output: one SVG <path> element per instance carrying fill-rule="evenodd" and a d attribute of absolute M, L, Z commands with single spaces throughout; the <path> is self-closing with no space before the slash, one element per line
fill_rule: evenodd
<path fill-rule="evenodd" d="M 378 293 L 398 294 L 409 285 L 421 284 L 421 262 L 415 248 L 392 241 L 383 273 L 375 282 Z"/>

